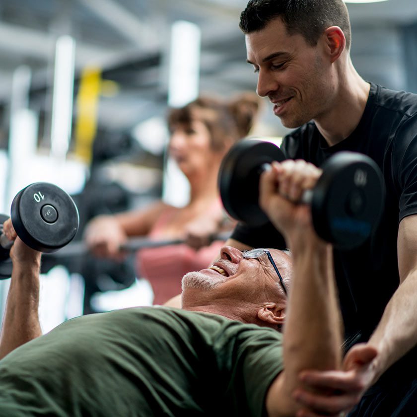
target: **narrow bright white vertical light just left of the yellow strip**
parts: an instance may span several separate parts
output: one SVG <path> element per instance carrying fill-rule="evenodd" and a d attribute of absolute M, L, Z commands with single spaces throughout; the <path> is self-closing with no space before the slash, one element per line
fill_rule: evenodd
<path fill-rule="evenodd" d="M 65 158 L 71 137 L 75 41 L 61 36 L 55 50 L 51 155 Z"/>

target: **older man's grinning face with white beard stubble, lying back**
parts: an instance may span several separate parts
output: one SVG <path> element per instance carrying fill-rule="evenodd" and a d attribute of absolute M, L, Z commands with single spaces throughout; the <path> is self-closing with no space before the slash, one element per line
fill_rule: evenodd
<path fill-rule="evenodd" d="M 282 251 L 271 249 L 271 255 L 283 277 L 288 276 L 291 261 Z M 189 305 L 218 302 L 263 304 L 285 298 L 279 278 L 267 255 L 245 259 L 231 246 L 223 246 L 218 259 L 208 269 L 186 274 L 182 280 L 183 308 Z"/>

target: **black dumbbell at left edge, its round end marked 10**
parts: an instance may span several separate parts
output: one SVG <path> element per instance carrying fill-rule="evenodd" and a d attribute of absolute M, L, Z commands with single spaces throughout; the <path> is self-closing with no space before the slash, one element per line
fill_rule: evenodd
<path fill-rule="evenodd" d="M 2 224 L 9 217 L 0 214 L 0 279 L 11 275 L 9 241 Z M 79 226 L 78 209 L 72 198 L 50 183 L 33 183 L 17 193 L 11 203 L 10 218 L 19 238 L 44 253 L 57 251 L 75 236 Z"/>

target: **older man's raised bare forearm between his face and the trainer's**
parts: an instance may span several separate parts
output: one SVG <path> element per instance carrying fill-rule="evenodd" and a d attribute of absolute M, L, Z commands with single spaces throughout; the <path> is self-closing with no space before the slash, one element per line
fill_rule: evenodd
<path fill-rule="evenodd" d="M 342 325 L 331 246 L 312 237 L 290 242 L 293 278 L 284 328 L 286 383 L 295 388 L 304 369 L 341 366 Z"/>

